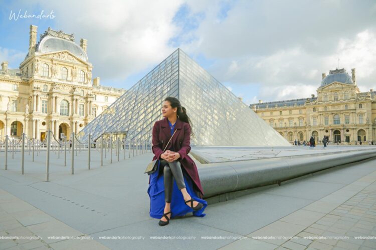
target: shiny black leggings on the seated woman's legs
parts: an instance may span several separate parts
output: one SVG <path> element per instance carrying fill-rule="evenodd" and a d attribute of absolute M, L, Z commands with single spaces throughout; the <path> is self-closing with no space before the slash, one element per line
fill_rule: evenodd
<path fill-rule="evenodd" d="M 176 185 L 179 190 L 185 187 L 180 161 L 167 161 L 161 159 L 159 162 L 159 173 L 162 172 L 164 182 L 164 201 L 170 203 L 172 197 L 173 178 L 175 178 Z"/>

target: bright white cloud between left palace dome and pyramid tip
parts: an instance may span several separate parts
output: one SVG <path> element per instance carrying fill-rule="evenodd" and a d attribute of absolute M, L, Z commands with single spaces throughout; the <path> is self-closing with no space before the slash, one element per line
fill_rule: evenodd
<path fill-rule="evenodd" d="M 100 76 L 103 84 L 155 66 L 176 49 L 168 40 L 179 30 L 172 18 L 182 0 L 34 0 L 25 4 L 53 9 L 59 29 L 74 33 L 78 44 L 81 38 L 88 40 L 93 77 Z M 38 30 L 38 36 L 43 32 Z"/>

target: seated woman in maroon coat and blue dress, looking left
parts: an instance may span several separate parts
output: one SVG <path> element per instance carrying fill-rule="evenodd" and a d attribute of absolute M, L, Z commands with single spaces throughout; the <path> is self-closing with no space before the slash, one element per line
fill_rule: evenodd
<path fill-rule="evenodd" d="M 188 155 L 192 122 L 185 108 L 177 98 L 166 97 L 162 115 L 164 118 L 153 126 L 153 160 L 159 160 L 157 170 L 150 174 L 147 193 L 150 197 L 150 216 L 160 218 L 159 225 L 166 225 L 170 218 L 183 216 L 187 212 L 205 216 L 203 212 L 208 203 L 202 199 L 204 192 L 197 166 Z"/>

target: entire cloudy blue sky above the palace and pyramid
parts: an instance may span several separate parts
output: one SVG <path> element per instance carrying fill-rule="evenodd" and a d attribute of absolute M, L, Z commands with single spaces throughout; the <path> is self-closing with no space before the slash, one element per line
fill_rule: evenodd
<path fill-rule="evenodd" d="M 180 47 L 249 105 L 317 94 L 356 68 L 376 89 L 374 0 L 0 0 L 0 61 L 18 68 L 48 27 L 87 39 L 93 77 L 129 89 Z M 20 17 L 21 15 L 43 17 Z M 12 14 L 14 15 L 12 16 Z M 18 18 L 17 18 L 18 17 Z"/>

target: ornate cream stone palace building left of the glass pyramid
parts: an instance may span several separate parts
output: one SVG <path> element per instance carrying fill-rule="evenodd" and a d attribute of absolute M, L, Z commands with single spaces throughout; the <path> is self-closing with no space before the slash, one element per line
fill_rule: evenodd
<path fill-rule="evenodd" d="M 44 139 L 48 129 L 70 138 L 120 97 L 125 90 L 92 80 L 93 65 L 74 34 L 48 28 L 37 42 L 37 26 L 30 25 L 29 52 L 18 69 L 2 62 L 0 70 L 0 138 L 22 133 Z"/>

